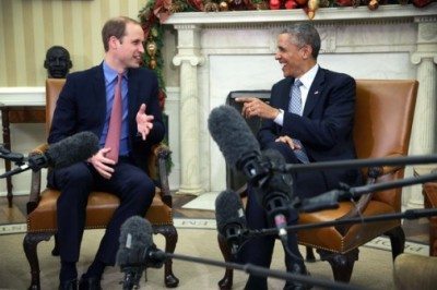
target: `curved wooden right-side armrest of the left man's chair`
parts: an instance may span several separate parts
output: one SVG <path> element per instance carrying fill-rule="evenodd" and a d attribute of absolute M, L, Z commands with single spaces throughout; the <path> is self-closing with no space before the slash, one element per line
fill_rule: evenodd
<path fill-rule="evenodd" d="M 161 198 L 168 206 L 173 206 L 170 189 L 168 185 L 167 161 L 172 152 L 163 143 L 154 145 L 149 157 L 149 174 L 152 179 L 160 180 Z"/>

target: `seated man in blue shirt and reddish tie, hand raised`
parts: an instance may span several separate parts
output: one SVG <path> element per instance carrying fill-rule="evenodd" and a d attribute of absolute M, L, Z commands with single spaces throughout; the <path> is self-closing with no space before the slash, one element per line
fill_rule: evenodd
<path fill-rule="evenodd" d="M 131 216 L 144 216 L 152 203 L 155 186 L 141 168 L 146 164 L 146 152 L 165 134 L 157 77 L 140 68 L 144 53 L 140 23 L 128 17 L 111 19 L 104 25 L 102 37 L 104 61 L 68 75 L 48 137 L 48 143 L 56 143 L 78 132 L 91 131 L 101 143 L 99 152 L 87 161 L 54 170 L 48 177 L 49 185 L 61 191 L 57 203 L 59 289 L 78 288 L 75 264 L 85 207 L 90 192 L 95 190 L 111 192 L 120 198 L 95 259 L 79 282 L 79 289 L 101 289 L 105 267 L 115 264 L 120 226 Z M 121 97 L 119 149 L 106 144 L 116 95 Z"/>

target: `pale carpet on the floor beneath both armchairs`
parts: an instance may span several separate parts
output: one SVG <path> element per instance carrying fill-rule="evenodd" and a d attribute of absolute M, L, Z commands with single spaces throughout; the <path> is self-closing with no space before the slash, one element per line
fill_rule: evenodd
<path fill-rule="evenodd" d="M 215 229 L 186 228 L 178 226 L 179 239 L 176 253 L 223 261 L 216 242 Z M 179 222 L 179 221 L 176 221 Z M 197 220 L 192 225 L 201 222 Z M 191 226 L 192 226 L 191 225 Z M 81 257 L 78 264 L 80 275 L 87 268 L 97 250 L 103 230 L 85 231 Z M 26 289 L 29 286 L 29 267 L 22 250 L 23 233 L 4 234 L 0 237 L 0 289 Z M 164 239 L 154 235 L 154 242 L 160 249 L 164 247 Z M 38 246 L 42 289 L 57 289 L 59 258 L 50 255 L 52 240 L 40 242 Z M 272 268 L 284 270 L 284 253 L 281 244 L 276 243 Z M 311 275 L 317 278 L 332 279 L 332 273 L 327 262 L 307 263 Z M 184 261 L 174 261 L 174 273 L 180 279 L 178 289 L 217 289 L 217 281 L 224 270 L 215 266 L 205 266 Z M 121 289 L 119 285 L 122 274 L 118 267 L 109 267 L 104 275 L 103 289 Z M 243 289 L 247 274 L 235 271 L 234 288 Z M 269 289 L 282 289 L 283 281 L 269 279 Z M 351 285 L 365 289 L 393 289 L 391 252 L 362 246 L 359 259 L 355 263 Z M 164 270 L 147 269 L 147 281 L 142 278 L 140 289 L 165 289 Z M 316 288 L 317 289 L 317 288 Z"/>

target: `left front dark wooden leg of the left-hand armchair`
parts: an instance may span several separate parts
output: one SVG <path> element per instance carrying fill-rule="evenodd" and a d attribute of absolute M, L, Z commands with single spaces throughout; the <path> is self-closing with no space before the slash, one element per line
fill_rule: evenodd
<path fill-rule="evenodd" d="M 54 233 L 51 232 L 28 232 L 23 240 L 23 249 L 26 254 L 28 265 L 31 266 L 32 282 L 28 289 L 39 290 L 39 262 L 37 246 L 40 241 L 48 241 Z"/>

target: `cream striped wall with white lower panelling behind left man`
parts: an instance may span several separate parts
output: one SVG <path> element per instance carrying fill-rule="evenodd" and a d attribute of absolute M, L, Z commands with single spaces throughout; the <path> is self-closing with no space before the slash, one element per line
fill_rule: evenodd
<path fill-rule="evenodd" d="M 54 45 L 69 50 L 73 62 L 70 72 L 98 64 L 104 56 L 101 29 L 105 21 L 118 15 L 139 20 L 138 14 L 145 3 L 146 0 L 0 0 L 0 102 L 15 98 L 44 101 L 47 77 L 44 60 L 47 49 Z M 176 53 L 175 31 L 166 26 L 164 38 L 164 59 L 168 59 L 164 68 L 166 84 L 177 86 L 179 74 L 172 64 Z M 167 88 L 167 93 L 166 111 L 177 116 L 177 88 Z M 168 110 L 176 111 L 176 114 Z M 177 142 L 176 128 L 172 125 L 169 129 L 170 145 Z M 46 142 L 43 124 L 11 124 L 10 130 L 13 152 L 26 154 Z M 173 147 L 177 148 L 177 145 Z M 176 188 L 177 149 L 173 157 L 175 167 L 170 186 Z M 4 171 L 3 160 L 0 160 L 0 173 Z M 12 177 L 15 195 L 28 193 L 29 177 L 29 171 Z M 0 196 L 4 195 L 5 180 L 1 179 Z"/>

